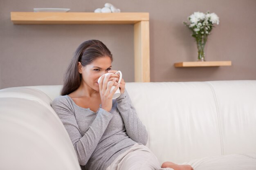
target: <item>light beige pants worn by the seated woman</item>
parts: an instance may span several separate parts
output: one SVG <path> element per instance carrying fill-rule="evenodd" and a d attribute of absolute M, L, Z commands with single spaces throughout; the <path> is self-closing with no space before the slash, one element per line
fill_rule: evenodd
<path fill-rule="evenodd" d="M 157 157 L 142 144 L 134 144 L 119 155 L 106 170 L 173 170 L 161 168 Z"/>

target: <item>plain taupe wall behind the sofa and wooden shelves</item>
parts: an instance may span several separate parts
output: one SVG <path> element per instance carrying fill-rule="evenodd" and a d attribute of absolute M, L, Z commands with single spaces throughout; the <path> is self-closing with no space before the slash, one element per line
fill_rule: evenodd
<path fill-rule="evenodd" d="M 150 13 L 151 82 L 256 79 L 256 0 L 0 0 L 0 88 L 62 84 L 76 47 L 88 39 L 105 43 L 114 55 L 113 68 L 133 82 L 132 25 L 14 25 L 10 20 L 11 11 L 92 12 L 106 2 L 122 12 Z M 208 38 L 206 60 L 231 60 L 232 66 L 173 66 L 197 58 L 195 41 L 182 24 L 194 11 L 220 17 Z"/>

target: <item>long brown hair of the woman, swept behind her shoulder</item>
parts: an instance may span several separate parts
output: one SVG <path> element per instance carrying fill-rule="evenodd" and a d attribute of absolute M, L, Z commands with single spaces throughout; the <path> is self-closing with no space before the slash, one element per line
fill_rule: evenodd
<path fill-rule="evenodd" d="M 78 62 L 81 62 L 82 66 L 86 66 L 93 60 L 104 56 L 110 57 L 111 61 L 113 61 L 111 52 L 101 41 L 88 40 L 80 44 L 64 74 L 61 95 L 68 95 L 79 88 L 82 76 L 78 72 Z"/>

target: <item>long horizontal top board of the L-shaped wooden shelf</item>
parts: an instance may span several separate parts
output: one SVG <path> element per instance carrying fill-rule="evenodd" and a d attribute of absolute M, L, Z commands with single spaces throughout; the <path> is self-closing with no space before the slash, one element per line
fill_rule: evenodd
<path fill-rule="evenodd" d="M 13 24 L 136 24 L 149 13 L 11 12 Z"/>

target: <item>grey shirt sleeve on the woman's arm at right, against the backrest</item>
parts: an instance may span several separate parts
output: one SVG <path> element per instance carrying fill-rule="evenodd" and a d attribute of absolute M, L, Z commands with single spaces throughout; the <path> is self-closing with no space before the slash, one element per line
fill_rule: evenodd
<path fill-rule="evenodd" d="M 117 98 L 117 103 L 117 108 L 124 120 L 127 135 L 133 141 L 146 145 L 148 141 L 148 132 L 137 116 L 137 112 L 132 105 L 132 101 L 126 89 L 124 93 Z"/>

